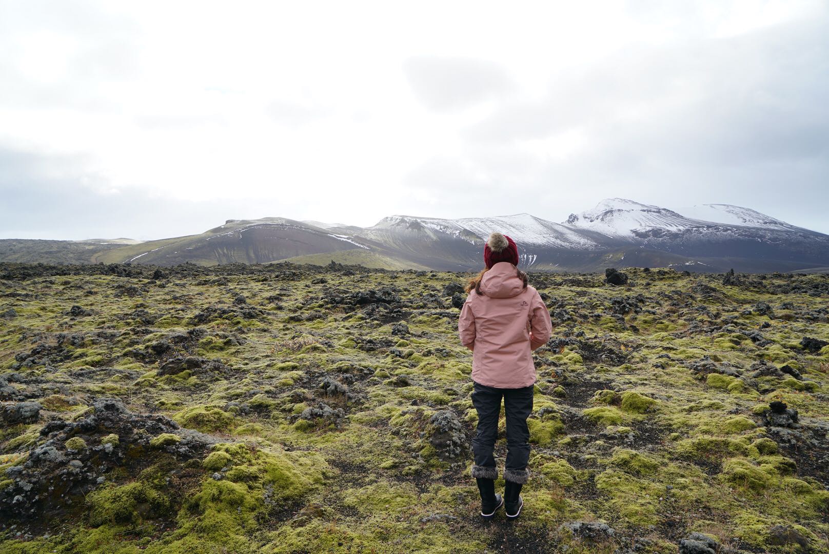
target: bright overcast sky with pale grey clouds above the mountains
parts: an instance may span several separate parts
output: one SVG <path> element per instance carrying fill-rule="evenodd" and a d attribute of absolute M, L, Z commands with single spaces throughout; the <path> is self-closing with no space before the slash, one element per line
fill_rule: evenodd
<path fill-rule="evenodd" d="M 605 197 L 829 233 L 827 6 L 0 0 L 0 238 Z"/>

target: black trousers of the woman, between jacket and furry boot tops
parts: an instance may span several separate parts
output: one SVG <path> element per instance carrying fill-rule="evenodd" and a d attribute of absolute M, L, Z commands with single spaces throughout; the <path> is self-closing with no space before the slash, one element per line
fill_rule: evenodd
<path fill-rule="evenodd" d="M 473 381 L 474 382 L 474 381 Z M 494 468 L 492 450 L 498 435 L 498 416 L 501 414 L 501 397 L 507 412 L 507 463 L 506 469 L 521 471 L 530 460 L 530 430 L 526 418 L 532 411 L 533 386 L 519 389 L 502 389 L 474 383 L 472 404 L 478 411 L 477 434 L 472 440 L 475 464 Z"/>

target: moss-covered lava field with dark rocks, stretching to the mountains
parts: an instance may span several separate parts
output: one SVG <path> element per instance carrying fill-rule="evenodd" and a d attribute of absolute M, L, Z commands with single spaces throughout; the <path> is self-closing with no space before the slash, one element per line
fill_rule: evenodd
<path fill-rule="evenodd" d="M 529 274 L 525 508 L 482 526 L 471 274 L 360 255 L 0 264 L 0 552 L 829 554 L 827 275 Z"/>

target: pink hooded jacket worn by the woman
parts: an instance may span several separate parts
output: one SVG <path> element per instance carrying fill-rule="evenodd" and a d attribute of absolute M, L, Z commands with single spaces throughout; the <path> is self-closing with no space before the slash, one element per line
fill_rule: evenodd
<path fill-rule="evenodd" d="M 538 291 L 508 261 L 492 265 L 463 304 L 458 332 L 473 348 L 472 378 L 482 385 L 521 388 L 536 382 L 532 350 L 550 340 L 550 312 Z"/>

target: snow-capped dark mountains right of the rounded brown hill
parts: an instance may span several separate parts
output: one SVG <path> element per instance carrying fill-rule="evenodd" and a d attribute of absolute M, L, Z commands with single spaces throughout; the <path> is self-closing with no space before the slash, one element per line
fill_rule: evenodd
<path fill-rule="evenodd" d="M 711 206 L 705 208 L 707 216 L 720 221 L 608 198 L 563 223 L 526 213 L 454 220 L 389 216 L 375 226 L 353 232 L 393 248 L 395 255 L 406 255 L 419 265 L 447 269 L 478 265 L 483 242 L 492 231 L 501 231 L 516 241 L 521 265 L 529 269 L 580 269 L 608 260 L 697 270 L 727 270 L 731 266 L 782 270 L 829 264 L 829 236 L 748 208 Z"/>

